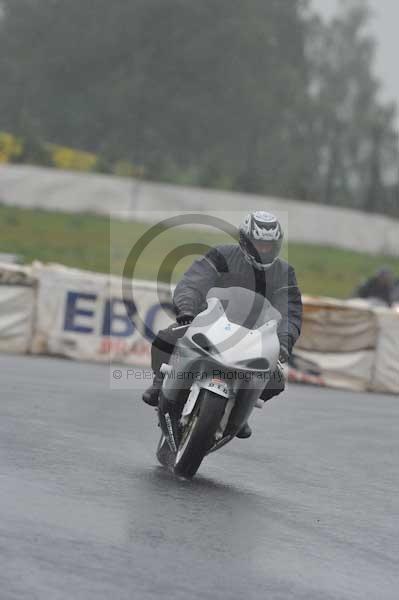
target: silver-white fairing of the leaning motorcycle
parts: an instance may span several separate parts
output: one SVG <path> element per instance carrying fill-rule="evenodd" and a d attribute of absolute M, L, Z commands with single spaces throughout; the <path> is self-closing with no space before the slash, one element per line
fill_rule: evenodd
<path fill-rule="evenodd" d="M 243 396 L 242 388 L 245 385 L 240 375 L 262 375 L 259 382 L 254 380 L 246 393 L 250 412 L 267 384 L 271 371 L 277 367 L 280 351 L 278 311 L 262 298 L 262 317 L 268 320 L 255 329 L 244 327 L 227 318 L 222 299 L 217 297 L 220 291 L 216 290 L 215 296 L 212 296 L 212 291 L 208 294 L 207 309 L 193 320 L 184 337 L 176 344 L 169 365 L 163 365 L 162 368 L 165 375 L 162 390 L 168 400 L 175 401 L 183 390 L 190 389 L 181 414 L 183 426 L 189 420 L 202 388 L 229 399 L 218 441 L 223 437 L 237 392 L 240 391 Z M 222 292 L 227 298 L 235 293 L 234 288 Z M 246 299 L 253 298 L 253 292 L 244 292 Z M 205 347 L 204 343 L 209 347 Z M 259 368 L 259 365 L 263 368 Z"/>

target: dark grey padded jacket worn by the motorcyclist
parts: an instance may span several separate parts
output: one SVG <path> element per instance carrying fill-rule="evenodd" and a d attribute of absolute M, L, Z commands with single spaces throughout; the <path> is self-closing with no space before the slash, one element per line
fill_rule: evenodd
<path fill-rule="evenodd" d="M 253 290 L 280 311 L 280 342 L 291 354 L 301 332 L 301 292 L 291 265 L 277 259 L 267 271 L 252 267 L 238 244 L 217 246 L 195 260 L 177 284 L 173 302 L 177 314 L 196 315 L 206 308 L 206 295 L 213 287 L 243 287 Z"/>

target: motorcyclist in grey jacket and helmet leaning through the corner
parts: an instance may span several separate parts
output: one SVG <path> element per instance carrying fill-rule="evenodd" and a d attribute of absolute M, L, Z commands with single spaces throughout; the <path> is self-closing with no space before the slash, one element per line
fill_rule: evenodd
<path fill-rule="evenodd" d="M 302 300 L 295 271 L 279 258 L 284 233 L 278 219 L 264 211 L 252 212 L 239 227 L 239 244 L 217 246 L 194 261 L 176 286 L 173 303 L 178 325 L 191 323 L 206 306 L 206 295 L 213 287 L 243 287 L 267 298 L 282 315 L 278 329 L 280 361 L 286 363 L 299 337 L 302 324 Z M 174 346 L 185 328 L 176 324 L 160 331 L 152 351 L 154 381 L 143 394 L 150 406 L 158 405 L 162 385 L 160 367 L 169 361 Z M 261 394 L 267 401 L 285 387 L 279 367 Z M 237 437 L 247 438 L 251 429 L 246 423 Z"/>

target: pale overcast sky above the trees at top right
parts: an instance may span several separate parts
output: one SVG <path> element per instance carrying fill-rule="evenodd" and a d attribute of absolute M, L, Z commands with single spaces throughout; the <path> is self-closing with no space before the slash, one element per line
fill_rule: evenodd
<path fill-rule="evenodd" d="M 316 9 L 330 16 L 338 0 L 313 0 Z M 399 111 L 399 0 L 369 0 L 374 12 L 371 30 L 378 42 L 376 73 L 384 97 L 396 101 Z"/>

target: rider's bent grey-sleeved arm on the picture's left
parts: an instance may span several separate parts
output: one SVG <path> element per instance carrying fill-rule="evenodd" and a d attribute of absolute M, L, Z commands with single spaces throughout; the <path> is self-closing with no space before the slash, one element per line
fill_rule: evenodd
<path fill-rule="evenodd" d="M 212 249 L 184 273 L 173 295 L 178 315 L 197 315 L 206 308 L 206 295 L 219 279 L 220 260 L 218 251 Z"/>

